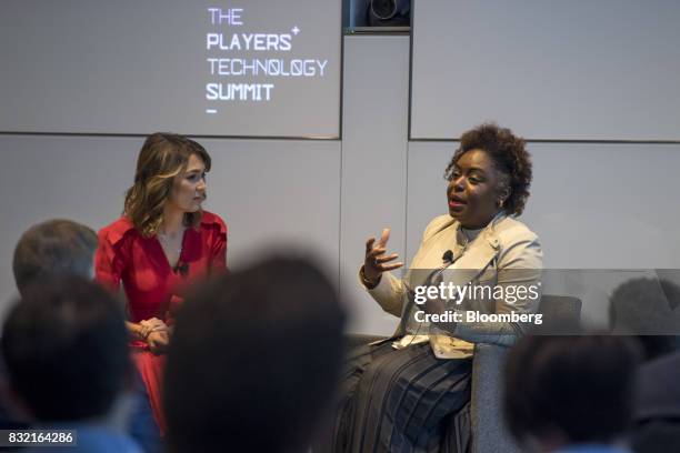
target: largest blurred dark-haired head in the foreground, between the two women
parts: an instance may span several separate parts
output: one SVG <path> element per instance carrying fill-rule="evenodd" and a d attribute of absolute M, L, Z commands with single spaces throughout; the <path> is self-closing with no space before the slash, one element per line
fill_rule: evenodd
<path fill-rule="evenodd" d="M 302 259 L 268 259 L 188 298 L 166 369 L 171 450 L 304 446 L 333 396 L 344 318 Z"/>

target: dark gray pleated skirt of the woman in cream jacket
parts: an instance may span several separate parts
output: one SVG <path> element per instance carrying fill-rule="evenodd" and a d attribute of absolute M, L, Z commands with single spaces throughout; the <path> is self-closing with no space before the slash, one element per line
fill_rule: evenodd
<path fill-rule="evenodd" d="M 467 452 L 471 370 L 471 359 L 438 359 L 429 343 L 350 351 L 332 451 Z"/>

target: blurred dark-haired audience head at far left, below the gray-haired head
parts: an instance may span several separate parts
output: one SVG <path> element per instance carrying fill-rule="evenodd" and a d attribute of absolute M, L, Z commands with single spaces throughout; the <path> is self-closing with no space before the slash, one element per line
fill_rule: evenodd
<path fill-rule="evenodd" d="M 122 306 L 76 276 L 30 286 L 4 321 L 1 346 L 11 387 L 40 421 L 104 415 L 130 378 Z"/>

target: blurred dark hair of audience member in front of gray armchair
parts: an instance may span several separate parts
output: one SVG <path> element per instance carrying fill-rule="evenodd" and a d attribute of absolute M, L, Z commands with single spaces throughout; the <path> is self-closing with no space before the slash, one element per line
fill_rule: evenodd
<path fill-rule="evenodd" d="M 569 443 L 609 442 L 632 417 L 639 351 L 608 335 L 524 336 L 509 352 L 504 416 L 520 442 L 559 430 Z"/>

